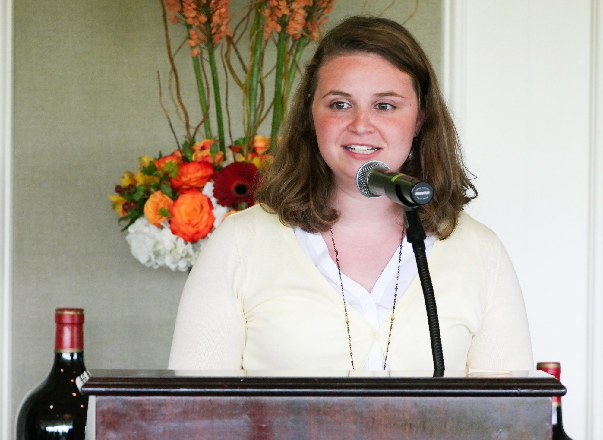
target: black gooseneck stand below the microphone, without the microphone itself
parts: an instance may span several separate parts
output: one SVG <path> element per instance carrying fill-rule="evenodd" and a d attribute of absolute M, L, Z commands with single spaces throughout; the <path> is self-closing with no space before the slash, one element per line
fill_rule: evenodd
<path fill-rule="evenodd" d="M 444 354 L 442 353 L 442 341 L 440 338 L 440 322 L 438 321 L 438 310 L 435 306 L 434 286 L 429 275 L 429 266 L 425 254 L 425 229 L 421 224 L 417 208 L 404 207 L 404 226 L 406 228 L 406 240 L 412 245 L 412 251 L 417 260 L 418 278 L 423 288 L 425 308 L 427 310 L 427 322 L 429 324 L 429 339 L 431 339 L 431 354 L 434 357 L 434 377 L 444 376 Z"/>

